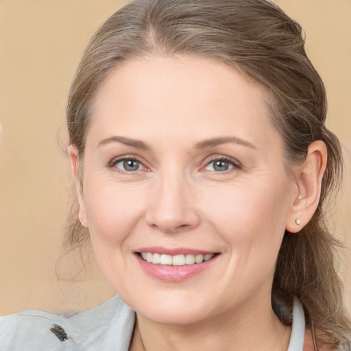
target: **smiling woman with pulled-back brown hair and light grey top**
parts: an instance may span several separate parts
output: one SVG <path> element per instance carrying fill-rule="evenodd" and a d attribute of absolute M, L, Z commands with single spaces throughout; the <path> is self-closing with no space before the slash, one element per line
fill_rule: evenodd
<path fill-rule="evenodd" d="M 5 317 L 4 350 L 350 350 L 325 118 L 300 26 L 272 3 L 138 0 L 111 16 L 69 96 L 69 241 L 90 236 L 119 298 Z"/>

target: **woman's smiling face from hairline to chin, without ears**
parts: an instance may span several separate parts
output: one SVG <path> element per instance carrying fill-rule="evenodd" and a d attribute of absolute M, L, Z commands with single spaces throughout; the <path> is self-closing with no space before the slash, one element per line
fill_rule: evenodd
<path fill-rule="evenodd" d="M 82 184 L 97 262 L 140 315 L 189 324 L 270 301 L 297 187 L 265 92 L 239 71 L 191 56 L 119 66 Z"/>

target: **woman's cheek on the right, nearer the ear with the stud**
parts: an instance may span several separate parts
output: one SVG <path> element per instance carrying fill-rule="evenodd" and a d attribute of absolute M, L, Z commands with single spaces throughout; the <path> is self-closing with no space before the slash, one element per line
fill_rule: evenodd
<path fill-rule="evenodd" d="M 221 279 L 238 296 L 250 295 L 265 282 L 271 284 L 289 211 L 287 191 L 284 183 L 265 189 L 237 188 L 221 194 L 212 211 L 208 208 L 215 231 L 226 242 L 228 264 Z"/>

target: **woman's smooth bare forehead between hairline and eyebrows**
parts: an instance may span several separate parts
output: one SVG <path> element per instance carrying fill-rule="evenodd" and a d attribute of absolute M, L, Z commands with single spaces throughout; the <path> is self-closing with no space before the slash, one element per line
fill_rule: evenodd
<path fill-rule="evenodd" d="M 137 58 L 99 88 L 88 134 L 204 139 L 234 133 L 257 141 L 262 128 L 274 132 L 265 101 L 263 86 L 226 64 L 193 56 Z"/>

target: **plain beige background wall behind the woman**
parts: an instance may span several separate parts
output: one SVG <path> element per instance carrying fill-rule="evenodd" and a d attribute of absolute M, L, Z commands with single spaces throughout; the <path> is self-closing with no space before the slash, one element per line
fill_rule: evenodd
<path fill-rule="evenodd" d="M 71 186 L 64 136 L 69 84 L 88 38 L 126 1 L 0 0 L 0 314 L 77 311 L 112 296 L 93 260 L 56 263 Z M 330 221 L 351 246 L 351 1 L 277 0 L 302 24 L 329 97 L 328 125 L 345 146 L 346 181 Z M 341 254 L 351 311 L 351 256 Z M 76 257 L 76 258 L 74 258 Z M 77 269 L 74 267 L 78 267 Z M 75 280 L 70 272 L 76 274 Z"/>

